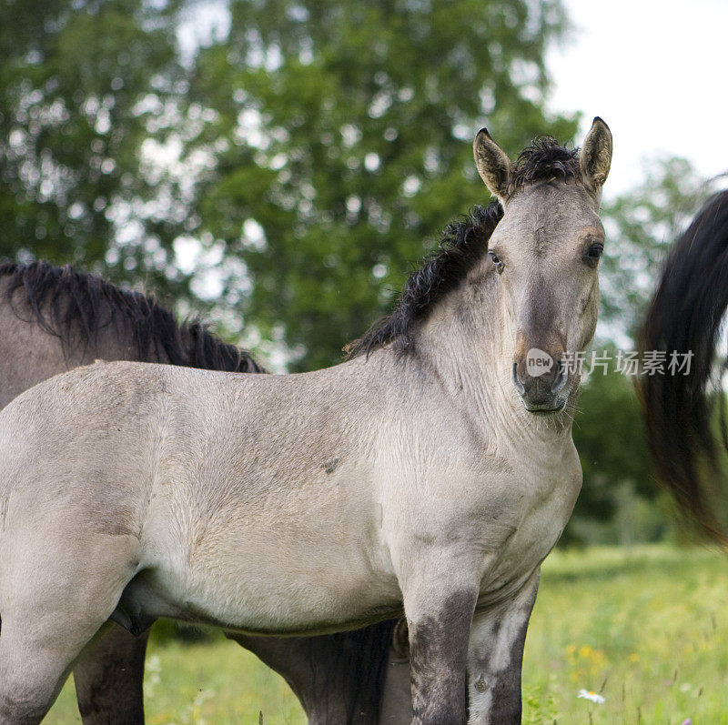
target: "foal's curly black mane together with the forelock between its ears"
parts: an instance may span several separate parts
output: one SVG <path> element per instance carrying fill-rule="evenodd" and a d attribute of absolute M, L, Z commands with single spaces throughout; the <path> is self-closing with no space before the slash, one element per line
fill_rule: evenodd
<path fill-rule="evenodd" d="M 521 151 L 511 169 L 509 196 L 539 181 L 569 182 L 580 174 L 578 149 L 561 146 L 551 136 L 541 136 Z M 344 348 L 347 356 L 369 355 L 389 343 L 394 343 L 400 353 L 410 350 L 415 323 L 425 319 L 480 262 L 502 216 L 503 207 L 494 200 L 490 206 L 475 206 L 469 215 L 445 227 L 437 249 L 405 282 L 394 310 L 375 322 L 364 337 L 350 342 Z"/>

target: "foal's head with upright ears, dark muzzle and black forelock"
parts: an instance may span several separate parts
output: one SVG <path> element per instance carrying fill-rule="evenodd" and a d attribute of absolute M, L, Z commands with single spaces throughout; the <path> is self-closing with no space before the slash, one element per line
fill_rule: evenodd
<path fill-rule="evenodd" d="M 597 321 L 604 229 L 598 212 L 612 134 L 595 118 L 581 153 L 542 137 L 515 164 L 481 129 L 476 165 L 504 215 L 490 238 L 511 326 L 511 380 L 531 413 L 559 412 L 578 385 L 570 360 Z"/>

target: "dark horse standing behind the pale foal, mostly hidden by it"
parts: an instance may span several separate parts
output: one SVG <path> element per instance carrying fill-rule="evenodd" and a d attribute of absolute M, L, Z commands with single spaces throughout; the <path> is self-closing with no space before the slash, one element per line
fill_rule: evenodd
<path fill-rule="evenodd" d="M 264 372 L 247 352 L 227 345 L 198 321 L 178 324 L 152 296 L 45 262 L 0 265 L 0 408 L 57 373 L 106 360 Z M 410 716 L 409 667 L 385 668 L 395 622 L 312 638 L 235 636 L 278 671 L 311 721 L 382 721 Z M 76 696 L 86 725 L 143 722 L 142 680 L 148 630 L 116 625 L 76 664 Z M 398 689 L 399 688 L 399 689 Z M 399 692 L 401 690 L 401 692 Z"/>

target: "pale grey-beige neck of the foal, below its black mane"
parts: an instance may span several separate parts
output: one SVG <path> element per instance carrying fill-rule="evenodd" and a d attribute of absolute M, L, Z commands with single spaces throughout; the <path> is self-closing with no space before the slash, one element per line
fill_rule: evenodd
<path fill-rule="evenodd" d="M 432 310 L 419 331 L 418 351 L 450 392 L 453 405 L 482 431 L 503 445 L 522 449 L 524 443 L 552 447 L 571 444 L 571 411 L 538 418 L 523 408 L 511 382 L 515 324 L 503 303 L 495 272 L 472 288 L 463 284 Z"/>

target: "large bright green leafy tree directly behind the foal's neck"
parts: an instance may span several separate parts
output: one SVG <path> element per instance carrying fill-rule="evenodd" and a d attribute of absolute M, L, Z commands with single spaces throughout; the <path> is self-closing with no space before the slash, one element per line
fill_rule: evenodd
<path fill-rule="evenodd" d="M 235 0 L 231 18 L 191 82 L 217 114 L 200 137 L 225 140 L 198 232 L 245 265 L 221 263 L 217 302 L 282 339 L 292 368 L 340 360 L 440 228 L 487 202 L 479 126 L 512 154 L 576 129 L 542 111 L 556 0 Z"/>

